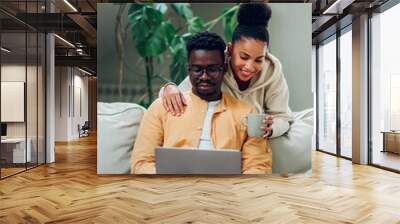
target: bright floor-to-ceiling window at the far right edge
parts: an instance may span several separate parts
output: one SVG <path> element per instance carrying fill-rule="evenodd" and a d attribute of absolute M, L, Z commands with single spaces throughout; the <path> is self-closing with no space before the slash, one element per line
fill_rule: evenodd
<path fill-rule="evenodd" d="M 371 18 L 372 164 L 400 170 L 400 4 Z M 397 139 L 397 140 L 396 140 Z M 394 144 L 394 145 L 393 145 Z M 393 149 L 389 149 L 389 145 Z"/>

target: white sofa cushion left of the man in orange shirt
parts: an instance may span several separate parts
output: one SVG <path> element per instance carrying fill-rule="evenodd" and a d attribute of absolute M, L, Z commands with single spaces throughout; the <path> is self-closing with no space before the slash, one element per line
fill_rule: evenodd
<path fill-rule="evenodd" d="M 97 104 L 97 173 L 130 173 L 130 158 L 144 112 L 133 103 Z"/>

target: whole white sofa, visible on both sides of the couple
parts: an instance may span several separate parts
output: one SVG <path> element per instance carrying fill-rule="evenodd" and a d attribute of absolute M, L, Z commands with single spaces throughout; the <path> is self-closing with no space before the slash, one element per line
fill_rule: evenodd
<path fill-rule="evenodd" d="M 97 173 L 130 172 L 130 157 L 145 109 L 132 103 L 102 103 L 97 106 Z M 311 169 L 313 111 L 293 113 L 287 134 L 271 139 L 272 172 L 303 173 Z"/>

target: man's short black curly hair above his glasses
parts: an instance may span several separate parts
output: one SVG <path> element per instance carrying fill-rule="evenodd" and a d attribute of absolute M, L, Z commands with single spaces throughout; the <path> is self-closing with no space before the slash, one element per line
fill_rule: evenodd
<path fill-rule="evenodd" d="M 192 50 L 218 50 L 221 53 L 222 61 L 225 61 L 225 48 L 224 40 L 218 34 L 208 31 L 195 34 L 186 43 L 188 56 Z"/>

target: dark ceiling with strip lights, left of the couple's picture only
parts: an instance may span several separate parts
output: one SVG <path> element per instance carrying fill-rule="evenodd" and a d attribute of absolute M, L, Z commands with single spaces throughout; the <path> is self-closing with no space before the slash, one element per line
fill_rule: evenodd
<path fill-rule="evenodd" d="M 3 60 L 18 61 L 26 55 L 29 61 L 36 57 L 36 46 L 43 47 L 33 40 L 36 33 L 54 32 L 56 65 L 79 66 L 95 74 L 96 10 L 96 0 L 48 0 L 47 5 L 44 0 L 1 0 L 2 46 L 12 49 Z"/>

